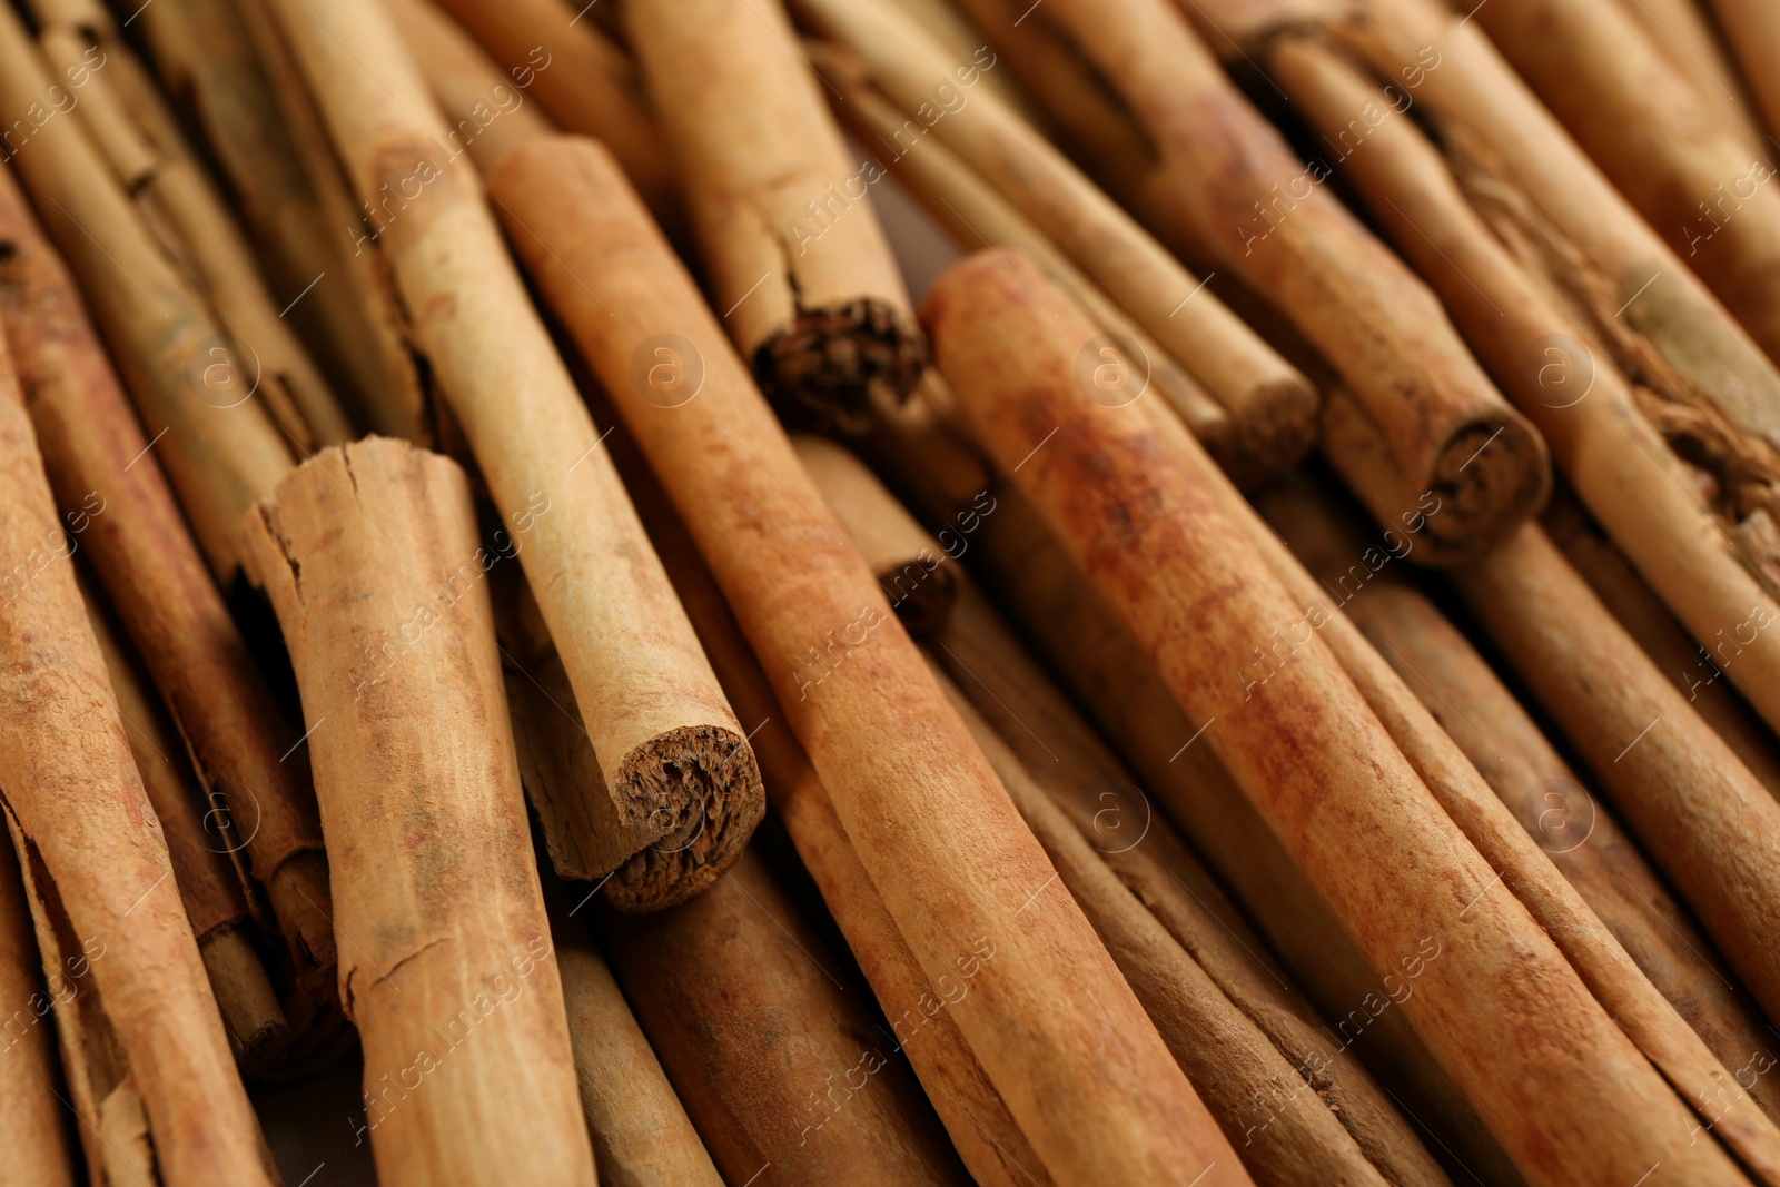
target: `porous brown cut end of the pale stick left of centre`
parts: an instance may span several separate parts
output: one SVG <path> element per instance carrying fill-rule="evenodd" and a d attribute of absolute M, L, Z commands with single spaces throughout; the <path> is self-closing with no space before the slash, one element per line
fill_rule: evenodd
<path fill-rule="evenodd" d="M 625 756 L 616 787 L 628 799 L 621 813 L 662 826 L 660 840 L 605 883 L 619 911 L 660 911 L 710 886 L 765 812 L 755 751 L 723 726 L 682 726 L 650 739 Z"/>

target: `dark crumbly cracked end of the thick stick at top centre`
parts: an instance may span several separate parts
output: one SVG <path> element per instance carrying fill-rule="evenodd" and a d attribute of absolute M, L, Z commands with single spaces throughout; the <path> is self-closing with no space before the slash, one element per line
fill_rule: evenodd
<path fill-rule="evenodd" d="M 915 319 L 876 297 L 819 310 L 755 347 L 755 379 L 781 416 L 863 434 L 872 425 L 870 399 L 904 402 L 929 361 L 927 338 Z"/>

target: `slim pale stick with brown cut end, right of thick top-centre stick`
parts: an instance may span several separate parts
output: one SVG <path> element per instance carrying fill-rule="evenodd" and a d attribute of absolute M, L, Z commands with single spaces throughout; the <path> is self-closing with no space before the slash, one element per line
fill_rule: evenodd
<path fill-rule="evenodd" d="M 970 87 L 993 69 L 993 53 L 954 62 L 885 0 L 796 0 L 796 9 L 860 55 L 897 107 L 915 112 L 885 144 L 895 158 L 913 155 L 934 133 L 1185 365 L 1234 420 L 1251 425 L 1257 440 L 1285 452 L 1314 432 L 1317 393 L 1290 363 L 1015 110 L 988 91 L 954 85 L 956 78 Z"/>

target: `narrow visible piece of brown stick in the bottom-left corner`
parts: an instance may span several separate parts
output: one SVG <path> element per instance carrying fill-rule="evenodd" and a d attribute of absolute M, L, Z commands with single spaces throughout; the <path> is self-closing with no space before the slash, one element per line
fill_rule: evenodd
<path fill-rule="evenodd" d="M 61 972 L 61 970 L 57 970 Z M 57 986 L 57 991 L 66 991 Z M 0 836 L 0 1150 L 18 1187 L 75 1187 L 71 1118 L 57 1100 L 55 1007 L 43 982 L 12 838 Z"/>

